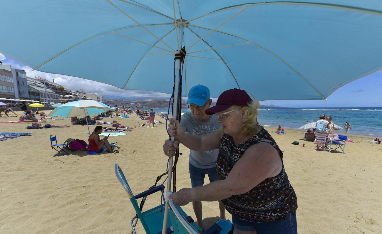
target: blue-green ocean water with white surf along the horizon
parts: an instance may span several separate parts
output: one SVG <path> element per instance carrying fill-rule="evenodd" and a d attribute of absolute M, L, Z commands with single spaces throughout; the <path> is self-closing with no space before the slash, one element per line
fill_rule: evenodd
<path fill-rule="evenodd" d="M 155 109 L 155 111 L 167 112 L 167 109 Z M 189 111 L 189 109 L 182 109 L 182 112 Z M 382 136 L 382 107 L 259 108 L 257 119 L 267 130 L 273 131 L 273 126 L 278 125 L 298 129 L 306 124 L 306 121 L 309 123 L 317 121 L 322 114 L 332 116 L 332 121 L 343 128 L 345 122 L 349 122 L 351 134 Z M 335 132 L 346 134 L 345 129 Z"/>

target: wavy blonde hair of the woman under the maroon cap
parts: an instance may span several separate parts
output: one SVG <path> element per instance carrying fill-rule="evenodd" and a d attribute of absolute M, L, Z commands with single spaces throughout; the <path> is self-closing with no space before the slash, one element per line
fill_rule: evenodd
<path fill-rule="evenodd" d="M 257 116 L 259 115 L 260 102 L 253 100 L 249 102 L 245 107 L 243 127 L 241 127 L 241 134 L 253 136 L 261 131 L 262 126 L 257 122 Z M 234 108 L 243 108 L 243 106 L 234 106 Z"/>

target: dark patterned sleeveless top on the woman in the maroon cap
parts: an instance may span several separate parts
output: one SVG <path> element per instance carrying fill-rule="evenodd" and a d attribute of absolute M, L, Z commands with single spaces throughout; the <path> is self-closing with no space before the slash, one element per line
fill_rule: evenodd
<path fill-rule="evenodd" d="M 283 153 L 264 128 L 246 142 L 238 145 L 238 147 L 233 144 L 230 135 L 224 134 L 222 140 L 220 140 L 220 150 L 216 164 L 220 179 L 226 179 L 233 166 L 244 155 L 244 152 L 263 139 L 272 141 L 272 143 L 262 142 L 262 144 L 269 143 L 273 145 L 282 160 Z M 222 202 L 231 215 L 254 223 L 280 220 L 285 218 L 289 211 L 295 213 L 297 209 L 297 197 L 286 175 L 284 164 L 277 176 L 267 178 L 248 192 L 225 198 Z"/>

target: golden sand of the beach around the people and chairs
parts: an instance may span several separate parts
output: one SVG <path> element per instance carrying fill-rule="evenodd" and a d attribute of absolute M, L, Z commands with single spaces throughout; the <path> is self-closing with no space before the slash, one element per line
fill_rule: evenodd
<path fill-rule="evenodd" d="M 131 115 L 118 121 L 133 126 L 137 119 Z M 10 120 L 17 118 L 0 118 Z M 70 119 L 46 123 L 65 125 Z M 110 136 L 109 142 L 118 142 L 120 147 L 116 154 L 69 151 L 60 157 L 53 157 L 49 135 L 55 134 L 59 143 L 68 138 L 87 141 L 86 126 L 25 129 L 27 125 L 31 123 L 0 124 L 1 132 L 32 132 L 31 136 L 0 141 L 0 233 L 131 232 L 129 222 L 135 212 L 115 177 L 114 164 L 123 169 L 134 194 L 152 186 L 166 171 L 167 157 L 162 151 L 168 138 L 165 124 Z M 372 144 L 371 137 L 348 135 L 354 143 L 346 144 L 345 154 L 318 152 L 312 142 L 302 147 L 302 130 L 286 129 L 281 135 L 273 127 L 267 130 L 285 151 L 283 162 L 298 197 L 299 233 L 382 233 L 381 144 Z M 295 140 L 300 145 L 291 144 Z M 189 151 L 181 145 L 180 152 L 178 189 L 191 186 Z M 151 195 L 144 209 L 159 204 L 160 194 Z M 191 204 L 183 209 L 195 218 Z M 203 202 L 206 228 L 218 220 L 218 214 L 217 202 Z M 228 212 L 227 218 L 231 219 Z M 137 231 L 144 233 L 140 224 Z"/>

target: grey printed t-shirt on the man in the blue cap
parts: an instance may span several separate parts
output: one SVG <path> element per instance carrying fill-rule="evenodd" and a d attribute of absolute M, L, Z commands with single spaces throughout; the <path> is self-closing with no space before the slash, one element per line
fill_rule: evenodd
<path fill-rule="evenodd" d="M 209 120 L 202 122 L 195 119 L 191 112 L 186 112 L 180 119 L 180 125 L 183 131 L 189 134 L 203 135 L 214 132 L 222 127 L 217 120 L 216 115 L 211 115 Z M 218 154 L 219 149 L 205 152 L 190 150 L 189 161 L 191 165 L 197 168 L 213 168 L 216 166 Z"/>

